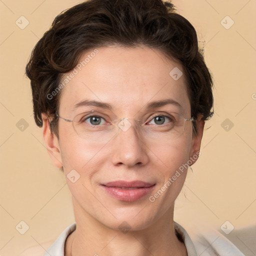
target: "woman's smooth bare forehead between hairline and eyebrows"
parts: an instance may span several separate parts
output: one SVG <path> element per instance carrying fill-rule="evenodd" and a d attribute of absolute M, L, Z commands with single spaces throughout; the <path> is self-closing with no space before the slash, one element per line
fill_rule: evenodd
<path fill-rule="evenodd" d="M 107 102 L 128 115 L 151 101 L 171 99 L 185 113 L 190 112 L 182 66 L 157 49 L 91 49 L 63 76 L 64 81 L 59 111 L 66 114 L 75 111 L 74 106 L 84 99 Z"/>

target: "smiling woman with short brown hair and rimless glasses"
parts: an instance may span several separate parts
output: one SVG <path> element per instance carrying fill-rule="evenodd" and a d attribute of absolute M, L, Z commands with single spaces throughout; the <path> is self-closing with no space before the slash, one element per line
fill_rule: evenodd
<path fill-rule="evenodd" d="M 197 43 L 161 0 L 89 0 L 38 41 L 26 66 L 34 118 L 75 217 L 45 255 L 197 255 L 173 221 L 213 113 Z M 221 255 L 243 255 L 223 244 Z"/>

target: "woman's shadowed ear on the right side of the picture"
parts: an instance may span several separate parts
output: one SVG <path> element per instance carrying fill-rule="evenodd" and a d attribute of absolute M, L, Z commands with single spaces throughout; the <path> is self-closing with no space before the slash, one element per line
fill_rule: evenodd
<path fill-rule="evenodd" d="M 200 145 L 201 145 L 201 139 L 202 139 L 202 134 L 203 134 L 203 127 L 204 127 L 204 120 L 202 119 L 202 115 L 199 115 L 196 119 L 196 130 L 197 134 L 194 134 L 192 137 L 192 146 L 190 149 L 189 157 L 193 159 L 193 163 L 196 162 L 198 156 L 200 155 Z M 196 157 L 195 157 L 196 155 Z M 192 163 L 192 164 L 193 164 Z"/>

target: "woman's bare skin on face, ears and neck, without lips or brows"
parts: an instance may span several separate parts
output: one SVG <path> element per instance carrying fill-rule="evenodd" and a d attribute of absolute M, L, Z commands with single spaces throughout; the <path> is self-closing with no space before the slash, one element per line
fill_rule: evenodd
<path fill-rule="evenodd" d="M 191 117 L 184 75 L 178 80 L 169 75 L 174 67 L 182 71 L 178 62 L 145 46 L 99 47 L 98 50 L 62 89 L 61 117 L 72 119 L 88 109 L 110 120 L 129 117 L 146 123 L 154 113 L 177 109 L 170 104 L 149 110 L 144 107 L 148 102 L 166 98 L 182 106 L 185 118 Z M 83 106 L 73 110 L 74 104 L 85 98 L 107 102 L 113 109 Z M 188 121 L 182 135 L 173 141 L 166 140 L 166 131 L 147 139 L 136 129 L 135 122 L 128 119 L 131 127 L 125 132 L 116 129 L 115 136 L 107 143 L 100 136 L 97 139 L 79 137 L 72 123 L 63 119 L 59 119 L 58 139 L 50 132 L 46 114 L 42 117 L 44 142 L 54 165 L 63 166 L 65 176 L 72 169 L 80 174 L 74 183 L 66 177 L 77 227 L 66 240 L 65 255 L 187 255 L 173 226 L 174 201 L 187 170 L 154 202 L 148 197 L 199 151 L 204 126 L 201 116 L 196 120 L 197 135 L 193 135 Z M 143 180 L 155 186 L 139 200 L 123 202 L 111 197 L 99 185 L 114 180 Z M 129 228 L 125 233 L 118 228 L 123 221 Z"/>

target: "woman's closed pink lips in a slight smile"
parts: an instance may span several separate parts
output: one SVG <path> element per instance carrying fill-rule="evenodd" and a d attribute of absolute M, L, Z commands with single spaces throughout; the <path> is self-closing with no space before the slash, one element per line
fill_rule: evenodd
<path fill-rule="evenodd" d="M 141 180 L 117 180 L 101 184 L 112 197 L 121 201 L 132 202 L 149 193 L 155 184 Z"/>

